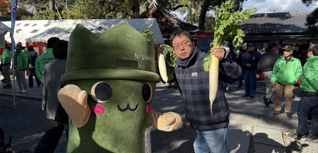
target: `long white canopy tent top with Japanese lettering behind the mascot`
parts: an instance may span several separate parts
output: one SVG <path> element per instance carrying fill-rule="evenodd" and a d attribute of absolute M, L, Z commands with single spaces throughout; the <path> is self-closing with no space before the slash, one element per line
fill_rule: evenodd
<path fill-rule="evenodd" d="M 16 21 L 14 40 L 16 42 L 46 42 L 51 37 L 59 37 L 68 40 L 77 23 L 82 24 L 93 33 L 103 31 L 117 25 L 120 22 L 128 22 L 140 33 L 143 29 L 150 29 L 155 36 L 157 44 L 164 44 L 156 18 L 147 19 L 89 19 L 89 20 L 23 20 Z M 11 26 L 11 22 L 3 22 Z M 5 36 L 10 40 L 10 35 Z"/>

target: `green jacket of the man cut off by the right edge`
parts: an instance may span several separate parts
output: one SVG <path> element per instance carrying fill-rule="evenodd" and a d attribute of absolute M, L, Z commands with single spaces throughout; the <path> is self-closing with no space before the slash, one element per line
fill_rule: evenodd
<path fill-rule="evenodd" d="M 307 92 L 318 92 L 318 56 L 307 60 L 304 65 L 300 87 Z"/>

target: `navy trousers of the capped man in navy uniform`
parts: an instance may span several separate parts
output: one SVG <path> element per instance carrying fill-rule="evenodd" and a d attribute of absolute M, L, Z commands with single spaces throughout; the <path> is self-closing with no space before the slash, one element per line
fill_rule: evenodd
<path fill-rule="evenodd" d="M 245 95 L 255 96 L 256 93 L 256 70 L 245 70 Z"/>

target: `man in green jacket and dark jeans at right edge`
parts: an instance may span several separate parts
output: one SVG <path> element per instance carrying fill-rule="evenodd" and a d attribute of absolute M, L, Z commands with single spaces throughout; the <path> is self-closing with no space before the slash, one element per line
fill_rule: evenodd
<path fill-rule="evenodd" d="M 298 105 L 298 128 L 296 133 L 288 135 L 289 139 L 306 141 L 307 139 L 318 142 L 318 45 L 314 45 L 308 49 L 308 61 L 304 65 L 304 72 L 300 87 L 301 100 Z M 307 119 L 308 115 L 312 115 L 312 126 L 308 137 Z"/>

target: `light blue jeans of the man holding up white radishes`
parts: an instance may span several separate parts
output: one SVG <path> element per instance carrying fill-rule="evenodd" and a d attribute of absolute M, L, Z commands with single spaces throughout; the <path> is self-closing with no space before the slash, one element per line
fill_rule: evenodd
<path fill-rule="evenodd" d="M 227 128 L 198 131 L 191 127 L 193 138 L 193 147 L 196 153 L 228 153 L 229 139 L 227 137 Z"/>

